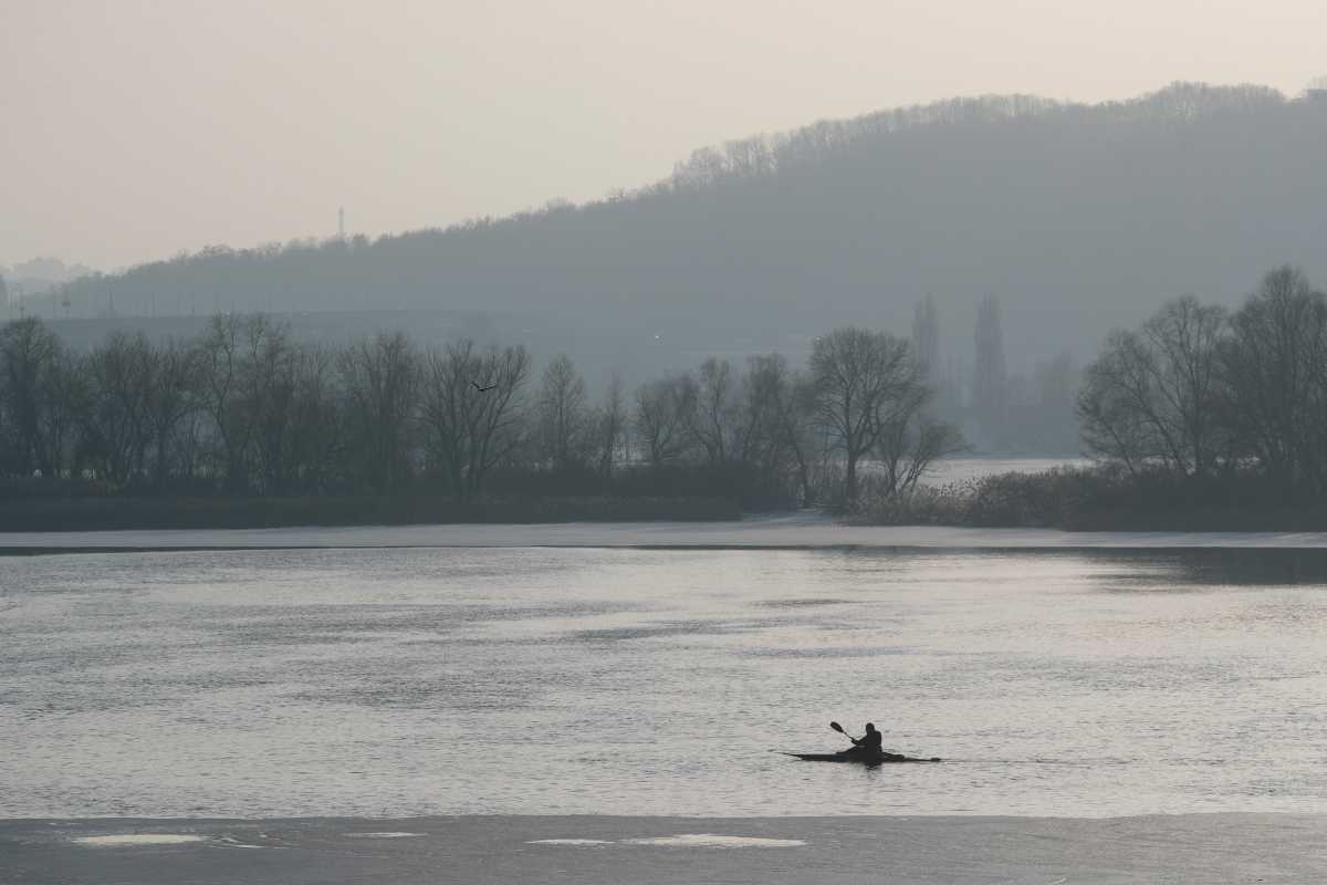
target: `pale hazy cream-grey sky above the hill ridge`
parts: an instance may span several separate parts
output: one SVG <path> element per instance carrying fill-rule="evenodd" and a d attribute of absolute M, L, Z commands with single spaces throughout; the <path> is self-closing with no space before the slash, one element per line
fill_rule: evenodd
<path fill-rule="evenodd" d="M 0 264 L 584 200 L 955 94 L 1298 92 L 1323 0 L 0 0 Z"/>

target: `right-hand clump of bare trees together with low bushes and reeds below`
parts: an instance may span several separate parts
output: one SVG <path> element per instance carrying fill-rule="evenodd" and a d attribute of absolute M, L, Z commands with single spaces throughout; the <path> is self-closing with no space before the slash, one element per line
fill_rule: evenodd
<path fill-rule="evenodd" d="M 1107 337 L 1078 395 L 1083 470 L 865 502 L 886 524 L 1327 528 L 1327 295 L 1292 267 L 1234 312 L 1182 297 Z"/>

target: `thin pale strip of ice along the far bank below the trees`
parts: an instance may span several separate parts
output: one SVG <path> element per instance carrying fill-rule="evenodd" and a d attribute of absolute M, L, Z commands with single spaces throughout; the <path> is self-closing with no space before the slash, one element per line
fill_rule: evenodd
<path fill-rule="evenodd" d="M 1064 532 L 848 525 L 812 512 L 723 521 L 344 525 L 0 532 L 0 556 L 198 549 L 598 547 L 658 549 L 1327 548 L 1327 532 Z"/>

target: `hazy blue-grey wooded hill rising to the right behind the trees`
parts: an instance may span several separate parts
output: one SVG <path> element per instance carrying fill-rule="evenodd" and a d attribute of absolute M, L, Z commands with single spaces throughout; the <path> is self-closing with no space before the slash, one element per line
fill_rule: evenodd
<path fill-rule="evenodd" d="M 993 293 L 1011 369 L 1082 361 L 1177 295 L 1234 303 L 1285 263 L 1327 281 L 1324 145 L 1327 100 L 1262 86 L 959 98 L 702 149 L 584 206 L 88 277 L 69 310 L 483 310 L 549 349 L 632 361 L 660 334 L 690 361 L 844 322 L 906 334 L 929 292 L 942 358 L 970 364 Z"/>

